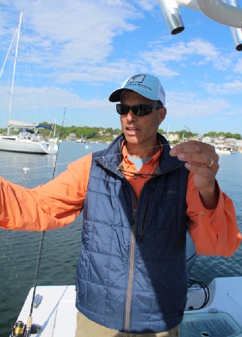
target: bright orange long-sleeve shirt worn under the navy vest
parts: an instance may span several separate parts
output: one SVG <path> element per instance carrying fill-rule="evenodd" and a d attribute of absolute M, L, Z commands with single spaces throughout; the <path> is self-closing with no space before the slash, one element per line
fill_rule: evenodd
<path fill-rule="evenodd" d="M 137 172 L 129 160 L 124 146 L 123 170 Z M 140 173 L 153 174 L 158 165 L 160 152 L 142 165 Z M 0 227 L 11 230 L 48 230 L 70 224 L 80 214 L 86 196 L 92 155 L 89 154 L 68 165 L 68 170 L 57 178 L 37 188 L 26 189 L 0 179 Z M 149 179 L 147 176 L 124 175 L 136 195 Z M 241 243 L 232 200 L 219 190 L 218 206 L 207 210 L 194 185 L 193 174 L 187 181 L 187 216 L 189 234 L 196 252 L 201 255 L 230 257 Z"/>

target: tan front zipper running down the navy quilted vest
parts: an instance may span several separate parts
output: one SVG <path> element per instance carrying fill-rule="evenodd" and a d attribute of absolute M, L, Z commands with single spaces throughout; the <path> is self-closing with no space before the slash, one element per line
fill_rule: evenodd
<path fill-rule="evenodd" d="M 130 254 L 129 254 L 129 280 L 127 289 L 127 302 L 125 310 L 125 332 L 129 334 L 129 320 L 130 320 L 130 308 L 131 308 L 131 297 L 132 297 L 132 286 L 133 286 L 133 269 L 134 269 L 134 248 L 136 242 L 136 212 L 137 208 L 133 208 L 133 219 L 131 227 L 131 244 L 130 244 Z"/>

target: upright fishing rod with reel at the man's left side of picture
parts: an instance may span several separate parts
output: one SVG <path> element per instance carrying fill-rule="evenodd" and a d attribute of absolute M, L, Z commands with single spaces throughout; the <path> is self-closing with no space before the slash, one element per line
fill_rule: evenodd
<path fill-rule="evenodd" d="M 59 134 L 59 140 L 61 139 L 62 136 L 62 129 L 63 129 L 63 125 L 64 125 L 64 118 L 66 115 L 66 108 L 64 109 L 64 116 L 63 116 L 63 120 L 62 120 L 62 128 Z M 57 155 L 55 158 L 55 167 L 53 170 L 53 178 L 55 178 L 55 169 L 57 166 L 57 157 L 59 154 L 59 146 L 58 146 L 58 150 L 57 150 Z M 24 173 L 26 175 L 26 172 L 28 171 L 28 167 L 24 167 Z M 26 178 L 24 179 L 26 181 Z M 31 306 L 30 306 L 30 314 L 28 316 L 27 322 L 26 324 L 24 324 L 24 322 L 22 322 L 21 320 L 18 320 L 15 325 L 12 325 L 11 327 L 11 333 L 10 333 L 10 337 L 29 337 L 30 334 L 37 334 L 41 331 L 42 327 L 41 325 L 38 324 L 32 324 L 32 309 L 34 307 L 38 307 L 39 303 L 41 302 L 41 297 L 37 294 L 35 296 L 36 293 L 36 287 L 37 287 L 37 280 L 38 280 L 38 276 L 39 276 L 39 266 L 40 266 L 40 262 L 41 262 L 41 255 L 42 255 L 42 250 L 43 250 L 43 245 L 44 245 L 44 235 L 45 235 L 46 231 L 43 230 L 43 232 L 41 233 L 41 239 L 39 242 L 39 253 L 38 253 L 38 257 L 37 257 L 37 264 L 36 264 L 36 269 L 35 269 L 35 281 L 33 284 L 33 292 L 32 292 L 32 302 L 31 302 Z"/>

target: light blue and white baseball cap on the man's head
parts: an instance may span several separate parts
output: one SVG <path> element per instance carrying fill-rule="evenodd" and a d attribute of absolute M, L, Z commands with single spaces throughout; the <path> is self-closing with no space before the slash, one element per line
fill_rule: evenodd
<path fill-rule="evenodd" d="M 111 93 L 110 102 L 120 102 L 120 96 L 125 90 L 136 91 L 149 100 L 160 100 L 165 107 L 165 91 L 156 76 L 141 73 L 127 78 L 120 88 Z"/>

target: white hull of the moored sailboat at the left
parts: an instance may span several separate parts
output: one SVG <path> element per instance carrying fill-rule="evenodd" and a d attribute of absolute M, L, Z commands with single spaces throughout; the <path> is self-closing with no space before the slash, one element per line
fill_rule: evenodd
<path fill-rule="evenodd" d="M 17 137 L 0 136 L 0 151 L 22 152 L 29 154 L 57 154 L 58 145 L 50 142 L 36 142 Z"/>

